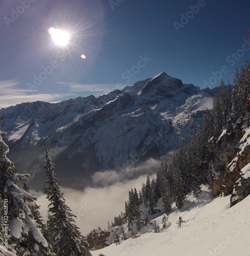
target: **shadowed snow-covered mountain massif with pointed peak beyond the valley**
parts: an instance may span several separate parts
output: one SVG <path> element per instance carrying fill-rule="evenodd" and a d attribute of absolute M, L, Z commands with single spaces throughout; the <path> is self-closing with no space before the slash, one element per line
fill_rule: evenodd
<path fill-rule="evenodd" d="M 177 148 L 212 102 L 210 89 L 162 72 L 98 98 L 11 106 L 2 130 L 10 132 L 9 157 L 19 172 L 41 176 L 47 147 L 62 184 L 84 187 L 93 172 L 132 167 Z"/>

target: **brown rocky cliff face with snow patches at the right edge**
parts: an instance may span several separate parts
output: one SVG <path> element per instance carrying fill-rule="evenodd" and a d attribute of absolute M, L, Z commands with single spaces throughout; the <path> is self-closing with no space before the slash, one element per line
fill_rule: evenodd
<path fill-rule="evenodd" d="M 230 134 L 224 130 L 216 141 L 210 140 L 210 152 L 213 195 L 233 193 L 231 205 L 249 195 L 249 180 L 242 175 L 242 169 L 250 162 L 250 128 L 236 126 Z"/>

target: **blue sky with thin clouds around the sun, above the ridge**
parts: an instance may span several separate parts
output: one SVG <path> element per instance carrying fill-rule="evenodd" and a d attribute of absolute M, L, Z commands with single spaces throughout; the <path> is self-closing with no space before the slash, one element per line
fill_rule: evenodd
<path fill-rule="evenodd" d="M 97 97 L 161 71 L 200 88 L 232 82 L 250 54 L 249 10 L 243 0 L 2 0 L 0 106 Z M 50 27 L 70 44 L 55 46 Z"/>

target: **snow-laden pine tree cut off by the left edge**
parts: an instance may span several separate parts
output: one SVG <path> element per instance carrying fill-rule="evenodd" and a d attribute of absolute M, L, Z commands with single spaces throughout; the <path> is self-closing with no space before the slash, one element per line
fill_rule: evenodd
<path fill-rule="evenodd" d="M 2 135 L 0 132 L 0 201 L 6 208 L 0 209 L 0 228 L 8 229 L 9 251 L 16 255 L 44 255 L 48 243 L 31 207 L 37 198 L 19 187 L 30 175 L 16 172 L 14 163 L 6 156 L 9 147 Z"/>

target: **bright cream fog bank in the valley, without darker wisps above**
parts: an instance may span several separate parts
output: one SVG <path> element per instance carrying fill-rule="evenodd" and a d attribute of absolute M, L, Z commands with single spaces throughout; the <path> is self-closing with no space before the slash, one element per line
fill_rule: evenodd
<path fill-rule="evenodd" d="M 76 224 L 84 236 L 100 226 L 107 229 L 108 221 L 113 221 L 114 216 L 118 216 L 124 211 L 124 202 L 128 200 L 128 191 L 135 187 L 141 189 L 142 182 L 145 183 L 146 176 L 126 182 L 116 182 L 110 186 L 102 188 L 87 187 L 84 191 L 70 188 L 61 188 L 64 193 L 66 204 L 77 216 Z M 43 193 L 36 193 L 38 205 L 40 205 L 41 215 L 44 221 L 47 220 L 48 200 Z"/>

